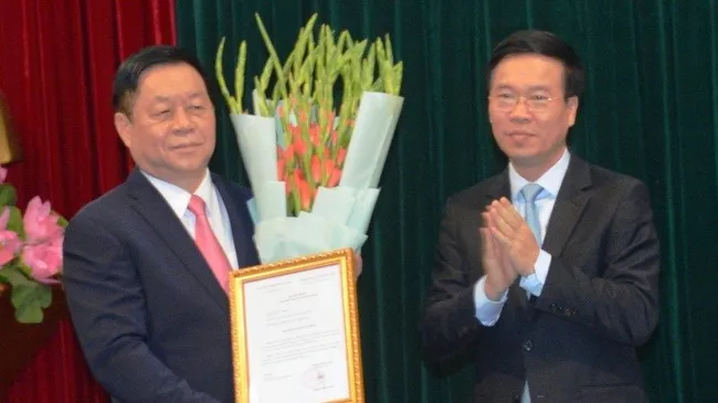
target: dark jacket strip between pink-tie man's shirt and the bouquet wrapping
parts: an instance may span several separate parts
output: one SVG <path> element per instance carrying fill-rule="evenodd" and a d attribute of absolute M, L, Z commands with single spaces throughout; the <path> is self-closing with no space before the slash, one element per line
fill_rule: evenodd
<path fill-rule="evenodd" d="M 224 202 L 224 208 L 226 209 L 226 214 L 230 219 L 232 238 L 234 240 L 234 250 L 236 252 L 236 262 L 240 266 L 233 268 L 242 268 L 258 264 L 260 259 L 256 248 L 254 247 L 254 242 L 252 241 L 252 231 L 247 231 L 247 229 L 251 229 L 253 224 L 249 214 L 245 213 L 245 206 L 237 203 L 237 200 L 230 194 L 224 180 L 213 174 L 212 181 Z"/>

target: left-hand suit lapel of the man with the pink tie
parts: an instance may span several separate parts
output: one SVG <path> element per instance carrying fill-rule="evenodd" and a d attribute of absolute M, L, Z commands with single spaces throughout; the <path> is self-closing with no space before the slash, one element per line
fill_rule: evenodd
<path fill-rule="evenodd" d="M 127 179 L 133 208 L 150 224 L 200 286 L 228 311 L 228 297 L 181 221 L 152 184 L 135 169 Z"/>

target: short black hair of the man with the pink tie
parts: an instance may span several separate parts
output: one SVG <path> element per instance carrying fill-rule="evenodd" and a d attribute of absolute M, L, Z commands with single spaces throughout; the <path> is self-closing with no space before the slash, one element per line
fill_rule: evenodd
<path fill-rule="evenodd" d="M 157 65 L 180 63 L 192 66 L 202 76 L 204 86 L 209 92 L 207 75 L 200 61 L 194 55 L 173 45 L 147 46 L 127 57 L 115 73 L 115 82 L 113 83 L 113 107 L 115 112 L 130 116 L 139 79 L 147 70 Z"/>

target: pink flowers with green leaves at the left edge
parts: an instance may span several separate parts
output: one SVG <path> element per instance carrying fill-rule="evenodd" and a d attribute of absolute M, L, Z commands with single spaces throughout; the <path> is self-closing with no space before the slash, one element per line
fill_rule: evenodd
<path fill-rule="evenodd" d="M 0 167 L 0 288 L 10 286 L 18 321 L 39 324 L 52 301 L 50 285 L 60 283 L 67 222 L 39 197 L 30 200 L 23 215 L 15 206 L 14 187 L 4 183 L 7 174 Z"/>

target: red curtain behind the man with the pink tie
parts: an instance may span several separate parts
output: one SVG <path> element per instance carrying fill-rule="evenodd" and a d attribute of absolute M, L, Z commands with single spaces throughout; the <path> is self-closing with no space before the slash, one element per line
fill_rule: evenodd
<path fill-rule="evenodd" d="M 71 218 L 125 179 L 131 161 L 113 126 L 114 72 L 145 45 L 175 42 L 175 0 L 2 1 L 0 92 L 24 156 L 8 167 L 7 180 L 22 209 L 39 194 Z M 12 346 L 0 346 L 0 361 L 3 349 Z M 67 318 L 3 397 L 108 401 Z"/>

